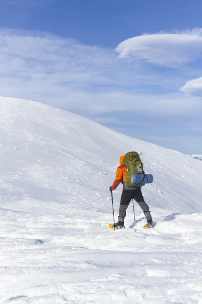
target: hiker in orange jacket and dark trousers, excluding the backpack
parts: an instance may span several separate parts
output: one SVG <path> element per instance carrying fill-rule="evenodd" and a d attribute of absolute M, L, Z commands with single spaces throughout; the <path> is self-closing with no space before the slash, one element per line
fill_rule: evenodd
<path fill-rule="evenodd" d="M 138 154 L 137 154 L 138 155 Z M 149 212 L 149 207 L 148 205 L 144 202 L 144 198 L 142 196 L 141 192 L 141 185 L 127 185 L 126 181 L 126 172 L 129 171 L 127 170 L 127 167 L 125 164 L 123 164 L 125 155 L 120 157 L 120 165 L 117 168 L 116 172 L 116 179 L 113 182 L 113 185 L 110 186 L 110 191 L 115 190 L 120 183 L 123 184 L 123 191 L 121 195 L 121 202 L 120 202 L 120 208 L 119 208 L 119 217 L 118 217 L 118 222 L 113 224 L 113 228 L 120 229 L 124 227 L 124 218 L 126 217 L 126 209 L 128 208 L 128 205 L 132 199 L 134 199 L 142 211 L 144 212 L 144 215 L 147 220 L 147 228 L 153 227 L 153 220 L 151 218 L 151 214 Z M 140 159 L 139 159 L 140 160 Z M 142 163 L 140 161 L 142 172 L 143 172 L 143 167 Z M 140 166 L 140 165 L 139 165 Z M 138 169 L 139 171 L 139 169 Z"/>

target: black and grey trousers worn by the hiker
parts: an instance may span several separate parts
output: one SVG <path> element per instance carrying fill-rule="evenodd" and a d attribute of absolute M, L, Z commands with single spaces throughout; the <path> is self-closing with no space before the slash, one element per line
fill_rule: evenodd
<path fill-rule="evenodd" d="M 134 199 L 142 211 L 144 212 L 144 215 L 147 220 L 151 220 L 151 215 L 149 212 L 148 205 L 144 202 L 144 198 L 142 196 L 142 192 L 140 188 L 132 189 L 132 190 L 125 190 L 123 189 L 122 195 L 121 195 L 121 203 L 119 208 L 119 221 L 124 222 L 124 218 L 126 217 L 126 209 L 128 208 L 128 205 L 130 204 L 130 201 Z"/>

